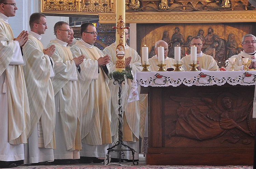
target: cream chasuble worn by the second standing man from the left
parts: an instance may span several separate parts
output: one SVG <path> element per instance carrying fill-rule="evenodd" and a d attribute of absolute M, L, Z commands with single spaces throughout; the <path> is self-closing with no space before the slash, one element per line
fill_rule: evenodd
<path fill-rule="evenodd" d="M 23 47 L 26 65 L 23 66 L 29 98 L 31 128 L 37 127 L 41 118 L 44 145 L 54 148 L 55 103 L 53 85 L 50 79 L 52 64 L 48 55 L 43 53 L 41 36 L 29 32 L 28 41 Z M 30 135 L 29 134 L 29 135 Z"/>

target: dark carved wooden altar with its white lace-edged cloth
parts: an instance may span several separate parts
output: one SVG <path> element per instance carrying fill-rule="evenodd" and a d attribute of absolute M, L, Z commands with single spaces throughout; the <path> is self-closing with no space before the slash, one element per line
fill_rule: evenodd
<path fill-rule="evenodd" d="M 137 72 L 149 98 L 149 165 L 253 165 L 255 71 Z"/>

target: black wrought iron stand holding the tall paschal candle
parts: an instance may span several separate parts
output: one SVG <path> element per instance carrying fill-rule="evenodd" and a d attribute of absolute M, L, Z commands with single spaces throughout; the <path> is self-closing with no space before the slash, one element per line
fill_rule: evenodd
<path fill-rule="evenodd" d="M 119 123 L 118 123 L 118 141 L 115 143 L 114 146 L 108 148 L 108 153 L 106 154 L 106 161 L 104 161 L 104 165 L 108 165 L 110 163 L 110 153 L 111 152 L 119 152 L 119 163 L 121 163 L 121 156 L 124 157 L 125 154 L 124 154 L 124 151 L 131 151 L 132 153 L 132 163 L 133 165 L 138 165 L 139 162 L 134 162 L 134 154 L 135 154 L 135 150 L 133 148 L 131 148 L 130 146 L 124 144 L 123 142 L 123 106 L 121 105 L 122 104 L 122 98 L 121 98 L 121 92 L 122 92 L 122 83 L 124 82 L 124 80 L 114 80 L 114 84 L 117 85 L 116 82 L 118 82 L 118 88 L 119 88 L 119 91 L 118 91 L 118 120 L 119 120 Z M 126 147 L 127 149 L 123 149 L 122 146 Z M 116 148 L 116 149 L 115 149 Z M 106 163 L 106 164 L 105 164 Z"/>

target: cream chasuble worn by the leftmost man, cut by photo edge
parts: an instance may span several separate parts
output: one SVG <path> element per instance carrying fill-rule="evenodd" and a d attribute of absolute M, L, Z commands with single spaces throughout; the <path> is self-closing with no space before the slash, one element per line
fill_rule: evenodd
<path fill-rule="evenodd" d="M 0 75 L 5 72 L 5 82 L 0 90 L 8 95 L 9 143 L 27 142 L 30 131 L 29 104 L 22 65 L 12 64 L 13 56 L 21 56 L 20 47 L 14 41 L 8 17 L 0 14 Z M 18 52 L 18 53 L 17 53 Z"/>

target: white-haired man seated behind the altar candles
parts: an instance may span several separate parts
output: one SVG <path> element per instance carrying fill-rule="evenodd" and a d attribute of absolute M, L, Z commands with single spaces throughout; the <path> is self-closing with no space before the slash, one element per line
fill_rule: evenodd
<path fill-rule="evenodd" d="M 162 46 L 163 47 L 163 51 L 164 51 L 164 58 L 165 58 L 165 64 L 166 66 L 164 67 L 165 70 L 167 70 L 167 68 L 175 68 L 173 66 L 173 64 L 175 64 L 175 61 L 173 58 L 170 58 L 170 57 L 167 57 L 167 54 L 168 54 L 168 44 L 166 43 L 166 41 L 164 40 L 158 40 L 156 43 L 155 43 L 155 53 L 156 55 L 149 58 L 148 59 L 148 62 L 150 64 L 150 66 L 148 67 L 148 69 L 150 69 L 150 71 L 157 71 L 158 70 L 158 57 L 157 57 L 157 54 L 158 54 L 158 47 Z"/>

